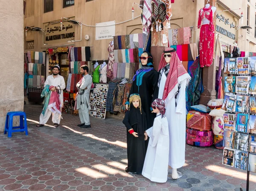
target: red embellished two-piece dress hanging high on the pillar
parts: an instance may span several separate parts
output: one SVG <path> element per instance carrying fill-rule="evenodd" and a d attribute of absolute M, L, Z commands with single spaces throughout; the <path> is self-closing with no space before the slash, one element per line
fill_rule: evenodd
<path fill-rule="evenodd" d="M 209 24 L 201 26 L 202 20 L 206 18 L 210 21 Z M 212 6 L 209 8 L 203 8 L 199 11 L 198 17 L 198 29 L 201 27 L 200 38 L 199 38 L 199 53 L 200 53 L 200 66 L 212 65 L 213 46 L 214 46 L 214 26 L 212 18 Z"/>

